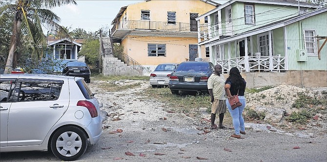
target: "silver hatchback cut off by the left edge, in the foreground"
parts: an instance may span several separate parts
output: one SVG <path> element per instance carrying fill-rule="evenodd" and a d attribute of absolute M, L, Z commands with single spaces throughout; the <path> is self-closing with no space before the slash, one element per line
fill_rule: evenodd
<path fill-rule="evenodd" d="M 0 92 L 0 152 L 49 150 L 72 161 L 100 140 L 100 105 L 83 78 L 4 74 Z"/>

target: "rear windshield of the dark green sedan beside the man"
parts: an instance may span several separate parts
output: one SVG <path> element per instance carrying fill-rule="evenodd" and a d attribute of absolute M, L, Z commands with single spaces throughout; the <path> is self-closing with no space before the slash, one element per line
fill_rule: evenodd
<path fill-rule="evenodd" d="M 181 63 L 175 71 L 207 72 L 208 70 L 209 63 L 188 62 Z"/>

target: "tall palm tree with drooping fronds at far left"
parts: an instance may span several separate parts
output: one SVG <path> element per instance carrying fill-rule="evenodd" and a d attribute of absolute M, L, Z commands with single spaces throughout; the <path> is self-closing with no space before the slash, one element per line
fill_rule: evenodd
<path fill-rule="evenodd" d="M 17 64 L 19 52 L 16 52 L 16 49 L 21 46 L 22 37 L 29 41 L 33 49 L 32 58 L 37 59 L 36 61 L 42 59 L 42 47 L 47 45 L 42 25 L 51 33 L 60 33 L 61 37 L 70 38 L 64 28 L 58 24 L 60 18 L 49 10 L 67 4 L 77 3 L 75 0 L 16 0 L 15 4 L 5 2 L 1 5 L 1 17 L 6 15 L 4 13 L 14 14 L 13 32 L 4 73 L 10 73 L 13 66 Z"/>

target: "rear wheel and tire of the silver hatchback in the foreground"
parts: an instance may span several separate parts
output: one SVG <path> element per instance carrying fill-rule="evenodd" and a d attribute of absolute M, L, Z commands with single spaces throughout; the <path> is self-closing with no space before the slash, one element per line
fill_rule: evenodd
<path fill-rule="evenodd" d="M 50 147 L 58 159 L 74 161 L 86 151 L 87 137 L 84 131 L 76 126 L 62 127 L 53 134 Z"/>

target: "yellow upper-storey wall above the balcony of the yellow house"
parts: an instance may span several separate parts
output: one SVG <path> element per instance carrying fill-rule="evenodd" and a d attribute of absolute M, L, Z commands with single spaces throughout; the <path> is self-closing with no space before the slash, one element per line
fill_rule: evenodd
<path fill-rule="evenodd" d="M 141 10 L 150 10 L 151 21 L 167 22 L 167 11 L 172 11 L 176 12 L 176 22 L 189 23 L 189 13 L 199 13 L 200 16 L 214 8 L 215 6 L 200 0 L 151 0 L 128 5 L 123 15 L 126 13 L 127 20 L 141 20 Z M 200 23 L 204 23 L 204 20 L 201 20 Z"/>

